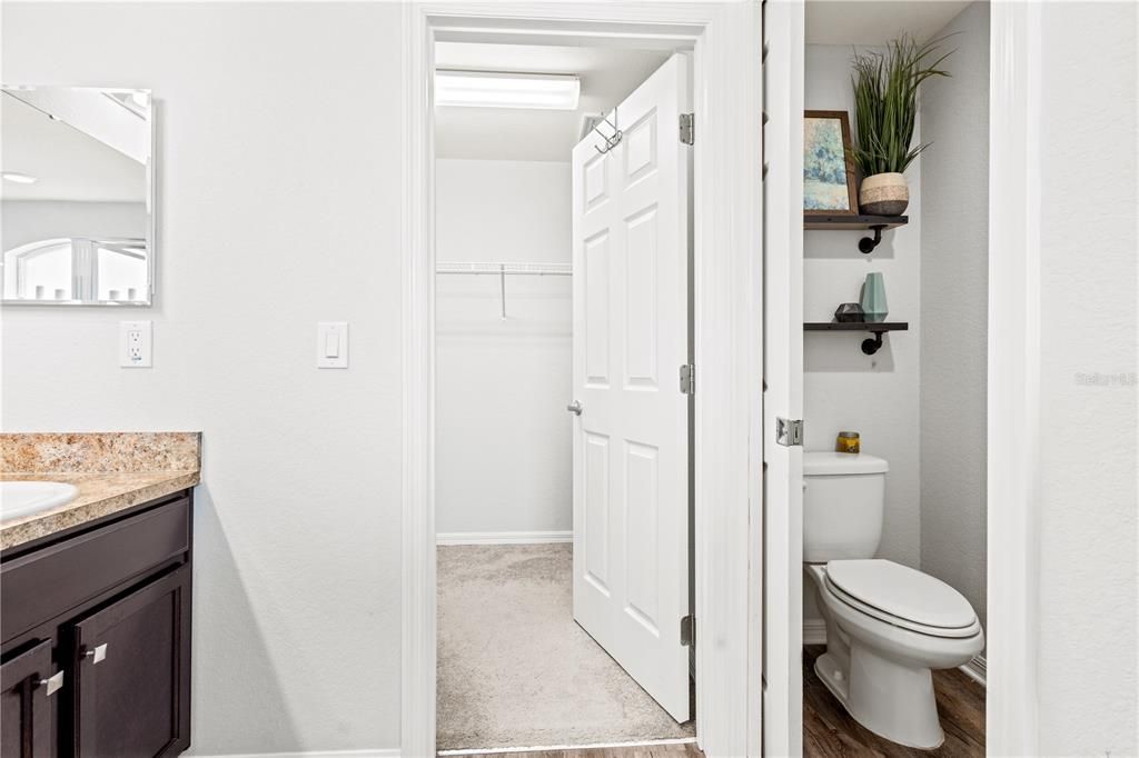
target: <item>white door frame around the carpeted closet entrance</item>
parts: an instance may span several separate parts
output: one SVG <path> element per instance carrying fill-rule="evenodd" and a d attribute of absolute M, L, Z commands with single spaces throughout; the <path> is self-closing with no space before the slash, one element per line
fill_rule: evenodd
<path fill-rule="evenodd" d="M 441 2 L 403 13 L 402 706 L 435 752 L 435 40 L 694 44 L 697 739 L 761 752 L 762 106 L 760 3 Z M 679 619 L 678 619 L 679 623 Z"/>

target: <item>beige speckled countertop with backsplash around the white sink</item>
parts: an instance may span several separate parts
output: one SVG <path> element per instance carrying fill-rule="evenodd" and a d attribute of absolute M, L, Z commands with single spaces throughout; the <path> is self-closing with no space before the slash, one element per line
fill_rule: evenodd
<path fill-rule="evenodd" d="M 0 435 L 0 480 L 62 481 L 68 503 L 0 521 L 0 550 L 198 484 L 198 432 Z"/>

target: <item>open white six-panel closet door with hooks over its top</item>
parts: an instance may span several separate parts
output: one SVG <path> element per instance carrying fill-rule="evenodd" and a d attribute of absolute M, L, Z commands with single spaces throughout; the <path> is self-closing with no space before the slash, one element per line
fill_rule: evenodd
<path fill-rule="evenodd" d="M 611 115 L 615 147 L 598 153 L 593 133 L 573 150 L 574 619 L 678 722 L 691 716 L 689 92 L 675 55 Z"/>

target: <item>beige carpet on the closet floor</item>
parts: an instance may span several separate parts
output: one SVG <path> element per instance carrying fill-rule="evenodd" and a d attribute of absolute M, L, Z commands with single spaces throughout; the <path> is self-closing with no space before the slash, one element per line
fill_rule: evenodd
<path fill-rule="evenodd" d="M 687 738 L 573 620 L 571 545 L 439 549 L 439 749 Z"/>

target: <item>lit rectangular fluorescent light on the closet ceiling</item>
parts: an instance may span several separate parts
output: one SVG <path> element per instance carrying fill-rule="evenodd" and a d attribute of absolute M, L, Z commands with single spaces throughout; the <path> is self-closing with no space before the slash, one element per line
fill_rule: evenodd
<path fill-rule="evenodd" d="M 567 74 L 436 71 L 435 105 L 576 110 L 581 82 Z"/>

